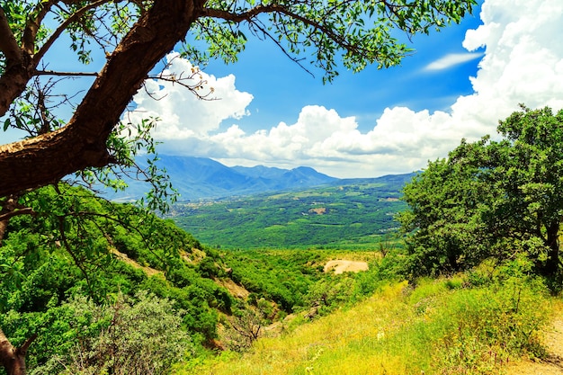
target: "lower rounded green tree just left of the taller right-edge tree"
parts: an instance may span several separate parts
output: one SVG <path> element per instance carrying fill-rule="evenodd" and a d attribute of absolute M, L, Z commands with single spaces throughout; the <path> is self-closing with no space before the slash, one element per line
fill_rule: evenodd
<path fill-rule="evenodd" d="M 482 147 L 463 142 L 458 148 Z M 468 159 L 430 162 L 403 190 L 408 210 L 398 215 L 407 233 L 407 272 L 411 276 L 458 272 L 487 252 L 480 209 L 490 200 L 481 171 Z"/>

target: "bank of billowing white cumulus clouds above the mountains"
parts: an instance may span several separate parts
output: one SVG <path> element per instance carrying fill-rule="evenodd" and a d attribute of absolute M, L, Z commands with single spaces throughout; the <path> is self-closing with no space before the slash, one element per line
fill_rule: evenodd
<path fill-rule="evenodd" d="M 446 156 L 461 138 L 496 134 L 497 121 L 518 103 L 563 108 L 563 40 L 558 38 L 563 2 L 485 0 L 480 17 L 483 24 L 467 31 L 463 47 L 484 48 L 484 54 L 449 55 L 427 67 L 442 69 L 482 56 L 477 76 L 469 78 L 473 94 L 457 98 L 447 112 L 387 108 L 367 132 L 358 129 L 354 117 L 316 105 L 304 107 L 293 124 L 252 133 L 239 125 L 218 131 L 221 121 L 245 116 L 252 100 L 237 91 L 234 76 L 205 76 L 222 98 L 216 106 L 178 94 L 180 88 L 169 83 L 150 84 L 165 99 L 150 102 L 139 94 L 135 102 L 139 111 L 165 119 L 156 137 L 166 140 L 170 152 L 228 165 L 309 165 L 338 177 L 411 172 Z M 186 64 L 173 61 L 170 69 L 191 67 Z"/>

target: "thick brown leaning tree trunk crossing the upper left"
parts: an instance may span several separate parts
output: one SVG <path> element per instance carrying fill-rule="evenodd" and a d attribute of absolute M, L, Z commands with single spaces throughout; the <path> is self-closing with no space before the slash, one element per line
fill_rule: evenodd
<path fill-rule="evenodd" d="M 205 0 L 156 0 L 121 40 L 67 126 L 0 147 L 0 197 L 112 163 L 105 146 L 148 72 L 182 40 Z"/>

